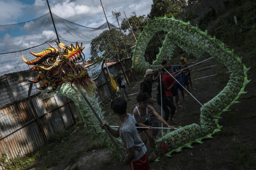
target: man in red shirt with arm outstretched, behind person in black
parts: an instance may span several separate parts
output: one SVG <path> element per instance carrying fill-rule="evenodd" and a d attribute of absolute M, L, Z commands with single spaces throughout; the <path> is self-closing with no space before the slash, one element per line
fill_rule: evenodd
<path fill-rule="evenodd" d="M 169 73 L 171 73 L 171 68 L 165 67 L 165 69 L 166 69 Z M 185 68 L 182 69 L 182 70 L 180 70 L 180 72 L 179 72 L 178 74 L 176 74 L 176 75 L 173 74 L 173 75 L 172 75 L 173 77 L 172 77 L 171 75 L 169 75 L 168 72 L 166 72 L 165 69 L 163 70 L 164 75 L 162 76 L 162 81 L 165 83 L 166 88 L 169 88 L 169 87 L 171 87 L 171 86 L 174 87 L 174 79 L 173 79 L 173 77 L 175 77 L 175 78 L 179 77 L 179 75 L 185 70 Z M 166 94 L 166 97 L 171 101 L 171 103 L 174 104 L 174 102 L 173 102 L 173 96 L 172 96 L 172 90 L 165 91 L 165 94 Z M 175 111 L 175 110 L 174 110 L 174 111 Z M 172 112 L 172 110 L 171 110 L 171 112 Z M 173 118 L 173 115 L 171 115 L 171 117 L 170 117 L 170 120 L 169 120 L 170 122 L 173 122 L 172 118 Z"/>

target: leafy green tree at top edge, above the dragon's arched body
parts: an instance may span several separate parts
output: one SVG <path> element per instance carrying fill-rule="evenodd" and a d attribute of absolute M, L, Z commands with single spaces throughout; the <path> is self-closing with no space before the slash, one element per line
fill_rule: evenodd
<path fill-rule="evenodd" d="M 164 17 L 165 15 L 171 18 L 172 16 L 181 14 L 182 7 L 182 0 L 153 0 L 148 18 L 155 19 L 156 17 Z"/>

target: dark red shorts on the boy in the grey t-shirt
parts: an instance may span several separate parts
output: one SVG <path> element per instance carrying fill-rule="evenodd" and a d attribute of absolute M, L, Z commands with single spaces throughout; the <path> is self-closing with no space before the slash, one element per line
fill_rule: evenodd
<path fill-rule="evenodd" d="M 129 162 L 131 170 L 150 170 L 148 151 L 138 161 Z"/>

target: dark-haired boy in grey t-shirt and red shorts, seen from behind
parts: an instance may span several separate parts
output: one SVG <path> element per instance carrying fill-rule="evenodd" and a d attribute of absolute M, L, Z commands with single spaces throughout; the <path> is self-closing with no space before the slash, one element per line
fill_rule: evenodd
<path fill-rule="evenodd" d="M 129 164 L 132 170 L 150 170 L 146 145 L 141 141 L 133 117 L 126 113 L 126 100 L 121 97 L 115 98 L 111 102 L 111 109 L 120 118 L 119 128 L 114 130 L 106 123 L 100 126 L 102 129 L 107 128 L 112 136 L 121 137 L 123 149 L 127 154 L 123 163 Z"/>

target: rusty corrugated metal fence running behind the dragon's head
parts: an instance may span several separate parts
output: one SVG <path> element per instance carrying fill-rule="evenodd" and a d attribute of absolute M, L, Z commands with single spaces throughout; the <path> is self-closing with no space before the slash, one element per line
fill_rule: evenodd
<path fill-rule="evenodd" d="M 122 63 L 129 82 L 133 82 L 137 73 L 131 69 L 131 59 Z M 120 62 L 109 67 L 115 80 L 119 71 L 122 72 Z M 95 82 L 100 101 L 113 95 L 107 69 L 102 70 Z M 30 154 L 45 145 L 52 134 L 69 129 L 78 115 L 75 103 L 57 94 L 34 95 L 6 104 L 0 108 L 0 154 L 5 152 L 7 158 L 16 157 L 19 150 L 21 156 Z"/>

